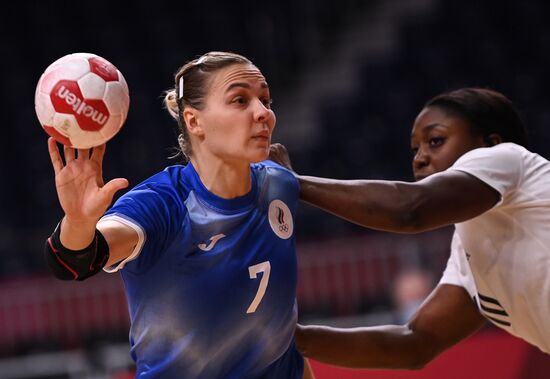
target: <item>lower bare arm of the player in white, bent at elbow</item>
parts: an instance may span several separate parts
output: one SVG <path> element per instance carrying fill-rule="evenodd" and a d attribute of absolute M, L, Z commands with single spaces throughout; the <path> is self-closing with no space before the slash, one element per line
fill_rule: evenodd
<path fill-rule="evenodd" d="M 353 329 L 299 325 L 296 341 L 304 356 L 332 365 L 417 369 L 484 322 L 464 288 L 442 284 L 407 325 Z"/>

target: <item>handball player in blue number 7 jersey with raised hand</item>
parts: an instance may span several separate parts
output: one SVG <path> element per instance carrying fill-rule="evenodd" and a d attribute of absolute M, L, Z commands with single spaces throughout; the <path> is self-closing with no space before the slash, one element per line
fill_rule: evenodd
<path fill-rule="evenodd" d="M 188 164 L 110 209 L 128 182 L 104 184 L 105 146 L 65 147 L 63 163 L 49 140 L 65 212 L 45 245 L 52 271 L 120 272 L 137 378 L 312 377 L 293 337 L 299 187 L 265 161 L 275 127 L 266 79 L 243 56 L 210 52 L 179 69 L 165 104 Z"/>

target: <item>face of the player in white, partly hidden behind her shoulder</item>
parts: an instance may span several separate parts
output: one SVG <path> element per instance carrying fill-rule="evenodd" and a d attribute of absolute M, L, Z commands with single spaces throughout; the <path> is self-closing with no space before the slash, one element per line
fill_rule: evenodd
<path fill-rule="evenodd" d="M 485 146 L 467 120 L 438 107 L 424 108 L 411 133 L 413 172 L 416 180 L 444 171 L 466 152 Z"/>

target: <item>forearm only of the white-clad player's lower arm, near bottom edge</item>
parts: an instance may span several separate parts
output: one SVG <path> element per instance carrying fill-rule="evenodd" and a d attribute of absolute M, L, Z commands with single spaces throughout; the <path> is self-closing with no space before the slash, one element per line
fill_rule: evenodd
<path fill-rule="evenodd" d="M 304 326 L 296 333 L 304 356 L 352 368 L 416 369 L 437 353 L 407 326 L 337 329 Z"/>

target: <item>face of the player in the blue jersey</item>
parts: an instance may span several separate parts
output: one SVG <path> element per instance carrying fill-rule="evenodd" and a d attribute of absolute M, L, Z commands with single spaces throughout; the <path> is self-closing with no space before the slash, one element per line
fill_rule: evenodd
<path fill-rule="evenodd" d="M 225 161 L 267 159 L 275 114 L 267 82 L 255 66 L 238 64 L 218 71 L 205 100 L 200 111 L 205 149 Z"/>

